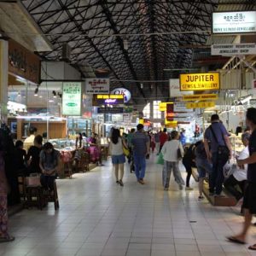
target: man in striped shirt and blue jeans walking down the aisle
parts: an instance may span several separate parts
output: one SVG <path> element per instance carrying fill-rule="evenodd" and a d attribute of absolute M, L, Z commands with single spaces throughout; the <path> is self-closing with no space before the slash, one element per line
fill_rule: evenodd
<path fill-rule="evenodd" d="M 146 156 L 149 154 L 149 137 L 143 131 L 144 126 L 137 125 L 137 132 L 131 138 L 133 146 L 133 159 L 135 166 L 135 173 L 137 182 L 144 184 L 144 177 L 146 171 Z"/>

